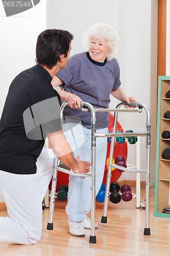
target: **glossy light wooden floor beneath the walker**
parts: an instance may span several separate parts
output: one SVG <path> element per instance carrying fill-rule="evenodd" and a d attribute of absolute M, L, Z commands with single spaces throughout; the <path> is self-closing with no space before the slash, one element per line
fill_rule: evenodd
<path fill-rule="evenodd" d="M 144 190 L 141 188 L 143 202 Z M 170 255 L 170 219 L 153 216 L 154 195 L 150 209 L 151 236 L 143 235 L 145 211 L 136 209 L 135 198 L 119 204 L 109 201 L 107 224 L 101 223 L 103 203 L 96 202 L 96 244 L 89 244 L 87 229 L 85 237 L 70 236 L 65 205 L 66 201 L 56 201 L 52 231 L 46 230 L 49 209 L 43 210 L 42 237 L 37 244 L 0 244 L 0 255 Z M 7 216 L 7 211 L 0 211 L 0 215 Z"/>

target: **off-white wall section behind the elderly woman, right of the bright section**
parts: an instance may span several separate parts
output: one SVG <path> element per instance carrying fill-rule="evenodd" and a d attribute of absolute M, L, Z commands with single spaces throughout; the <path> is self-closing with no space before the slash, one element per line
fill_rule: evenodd
<path fill-rule="evenodd" d="M 157 62 L 157 1 L 51 0 L 47 2 L 47 28 L 66 29 L 75 36 L 72 41 L 71 55 L 84 51 L 83 33 L 89 26 L 98 22 L 113 26 L 121 39 L 116 57 L 120 65 L 122 88 L 127 95 L 135 96 L 139 102 L 150 108 L 151 81 L 153 90 L 157 86 L 157 67 L 155 66 Z M 155 93 L 152 98 L 156 102 Z M 114 108 L 118 102 L 112 98 L 110 107 Z M 134 132 L 145 131 L 144 113 L 127 114 L 126 117 L 125 114 L 119 114 L 118 120 L 125 131 L 129 128 Z M 145 138 L 141 138 L 142 141 L 143 139 L 144 142 L 140 146 L 142 169 L 145 168 Z M 128 150 L 128 163 L 136 163 L 135 145 L 131 145 Z M 155 172 L 154 164 L 153 161 L 153 172 Z M 124 173 L 120 179 L 135 180 L 135 174 Z M 141 176 L 141 180 L 144 179 L 145 176 Z"/>

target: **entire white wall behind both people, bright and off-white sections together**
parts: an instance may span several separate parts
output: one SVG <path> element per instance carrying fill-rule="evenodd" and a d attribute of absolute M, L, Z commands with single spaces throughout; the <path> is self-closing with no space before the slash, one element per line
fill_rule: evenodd
<path fill-rule="evenodd" d="M 3 4 L 0 2 L 2 35 L 0 41 L 0 114 L 13 78 L 22 70 L 35 65 L 35 45 L 40 32 L 46 28 L 60 28 L 73 33 L 75 38 L 72 41 L 72 55 L 84 51 L 82 48 L 83 33 L 97 22 L 108 23 L 117 30 L 121 41 L 116 57 L 120 65 L 122 88 L 127 95 L 135 96 L 138 101 L 151 109 L 154 136 L 157 101 L 157 1 L 155 0 L 107 0 L 105 2 L 101 0 L 98 2 L 50 0 L 47 1 L 47 14 L 46 1 L 41 0 L 34 8 L 11 17 L 5 16 Z M 118 102 L 112 99 L 110 106 L 114 108 Z M 130 128 L 133 131 L 142 131 L 145 129 L 144 113 L 127 114 L 126 117 L 119 114 L 118 120 L 124 130 Z M 151 142 L 153 151 L 151 168 L 154 176 L 155 141 Z M 145 142 L 141 143 L 140 151 L 141 168 L 145 168 Z M 131 145 L 128 150 L 128 163 L 135 163 L 134 158 L 135 145 Z M 135 175 L 124 173 L 121 178 L 135 179 Z M 141 179 L 144 180 L 144 178 Z"/>

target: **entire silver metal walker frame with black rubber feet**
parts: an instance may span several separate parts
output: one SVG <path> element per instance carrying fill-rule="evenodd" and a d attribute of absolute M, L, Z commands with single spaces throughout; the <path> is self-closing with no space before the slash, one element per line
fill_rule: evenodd
<path fill-rule="evenodd" d="M 63 116 L 63 110 L 67 105 L 67 102 L 64 102 L 61 105 L 61 117 Z M 138 109 L 121 109 L 120 106 L 133 106 L 138 107 Z M 75 175 L 80 177 L 90 177 L 91 178 L 91 233 L 89 243 L 96 243 L 96 235 L 95 235 L 95 150 L 96 150 L 96 138 L 97 137 L 112 137 L 111 138 L 111 146 L 110 146 L 110 156 L 109 156 L 109 165 L 108 165 L 108 173 L 106 180 L 106 191 L 105 191 L 105 201 L 104 201 L 104 209 L 103 216 L 101 219 L 102 223 L 107 223 L 107 208 L 108 208 L 108 199 L 109 199 L 109 188 L 110 188 L 110 180 L 111 180 L 111 168 L 118 167 L 118 169 L 133 172 L 133 173 L 145 173 L 146 174 L 146 183 L 145 183 L 145 227 L 144 227 L 144 235 L 150 235 L 150 136 L 151 136 L 151 117 L 150 111 L 147 106 L 138 102 L 131 102 L 127 104 L 126 102 L 120 102 L 115 109 L 96 109 L 88 102 L 81 102 L 82 111 L 90 111 L 91 112 L 91 174 L 75 174 L 68 169 L 61 168 L 59 166 L 59 161 L 56 160 L 56 165 L 54 170 L 54 175 L 52 179 L 52 190 L 51 190 L 51 201 L 50 201 L 50 213 L 49 219 L 47 223 L 47 229 L 53 230 L 53 215 L 54 215 L 54 205 L 56 198 L 56 184 L 57 184 L 57 172 L 67 173 L 69 175 Z M 116 124 L 117 124 L 117 116 L 118 112 L 138 112 L 141 113 L 142 109 L 145 110 L 147 114 L 147 122 L 146 122 L 146 132 L 145 133 L 115 133 Z M 114 120 L 113 120 L 113 129 L 112 133 L 96 133 L 96 117 L 95 112 L 114 112 Z M 113 152 L 114 152 L 114 141 L 115 137 L 132 137 L 132 136 L 145 136 L 147 137 L 146 148 L 147 148 L 147 168 L 146 170 L 138 170 L 138 169 L 130 169 L 125 167 L 120 167 L 116 164 L 112 164 Z"/>

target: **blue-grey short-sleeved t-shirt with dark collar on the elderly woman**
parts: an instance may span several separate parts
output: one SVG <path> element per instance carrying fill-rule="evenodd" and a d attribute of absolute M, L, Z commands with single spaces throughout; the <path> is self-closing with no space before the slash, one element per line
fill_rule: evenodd
<path fill-rule="evenodd" d="M 64 91 L 76 94 L 94 108 L 108 108 L 111 91 L 121 84 L 119 65 L 115 58 L 103 63 L 96 62 L 86 52 L 70 57 L 65 69 L 58 71 L 56 75 L 64 81 Z M 90 128 L 91 113 L 66 106 L 64 115 L 78 116 L 82 124 Z M 108 126 L 109 113 L 96 112 L 96 128 Z"/>

